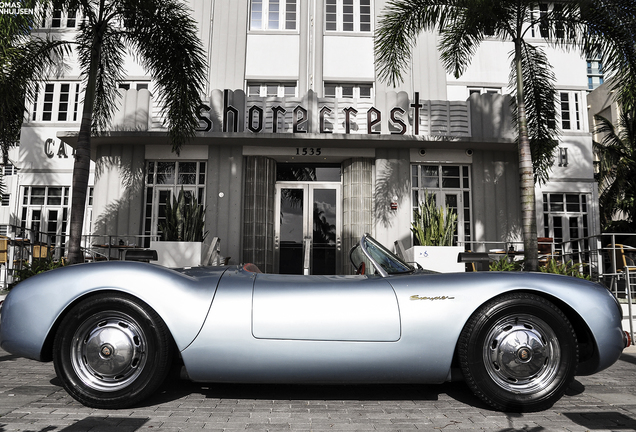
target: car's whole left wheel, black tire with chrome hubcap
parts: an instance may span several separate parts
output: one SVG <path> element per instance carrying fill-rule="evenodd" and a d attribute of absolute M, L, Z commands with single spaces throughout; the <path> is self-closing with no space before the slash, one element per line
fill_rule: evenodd
<path fill-rule="evenodd" d="M 125 408 L 157 390 L 172 362 L 172 338 L 145 303 L 100 294 L 73 307 L 53 346 L 66 391 L 93 408 Z"/>

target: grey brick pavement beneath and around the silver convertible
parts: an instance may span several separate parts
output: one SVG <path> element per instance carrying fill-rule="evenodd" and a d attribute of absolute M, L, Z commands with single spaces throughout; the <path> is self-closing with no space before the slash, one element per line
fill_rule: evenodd
<path fill-rule="evenodd" d="M 51 363 L 0 350 L 0 432 L 8 431 L 624 431 L 636 430 L 636 348 L 579 377 L 540 413 L 490 410 L 463 383 L 394 386 L 200 385 L 171 382 L 133 409 L 75 402 Z"/>

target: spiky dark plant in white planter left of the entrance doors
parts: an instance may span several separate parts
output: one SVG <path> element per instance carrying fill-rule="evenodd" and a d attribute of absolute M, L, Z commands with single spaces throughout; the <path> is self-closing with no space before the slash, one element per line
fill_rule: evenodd
<path fill-rule="evenodd" d="M 183 188 L 172 202 L 166 202 L 166 218 L 159 223 L 161 241 L 151 242 L 158 255 L 158 264 L 165 267 L 201 265 L 201 245 L 207 232 L 205 208 Z"/>

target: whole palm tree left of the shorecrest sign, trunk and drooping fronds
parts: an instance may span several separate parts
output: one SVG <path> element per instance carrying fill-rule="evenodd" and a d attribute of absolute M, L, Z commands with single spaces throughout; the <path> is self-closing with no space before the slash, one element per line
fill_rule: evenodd
<path fill-rule="evenodd" d="M 75 147 L 68 260 L 81 262 L 91 136 L 107 129 L 127 49 L 153 77 L 174 152 L 197 127 L 205 57 L 194 21 L 180 0 L 55 0 L 84 17 L 75 49 L 84 79 L 84 107 Z"/>

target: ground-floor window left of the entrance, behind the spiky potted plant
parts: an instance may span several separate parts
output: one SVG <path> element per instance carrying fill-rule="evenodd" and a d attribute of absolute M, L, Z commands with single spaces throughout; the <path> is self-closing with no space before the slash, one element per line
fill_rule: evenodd
<path fill-rule="evenodd" d="M 159 235 L 159 223 L 166 218 L 166 203 L 183 189 L 205 205 L 206 163 L 202 161 L 148 161 L 146 165 L 146 200 L 144 234 L 150 246 L 150 236 Z"/>

